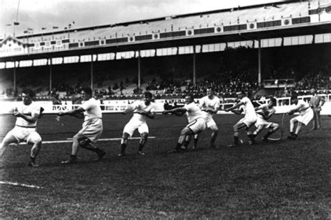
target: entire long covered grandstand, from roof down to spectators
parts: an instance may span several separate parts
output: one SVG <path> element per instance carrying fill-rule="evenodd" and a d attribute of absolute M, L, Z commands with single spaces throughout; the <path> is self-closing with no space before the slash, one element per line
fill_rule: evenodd
<path fill-rule="evenodd" d="M 252 91 L 330 93 L 331 3 L 290 1 L 23 36 L 0 42 L 0 97 L 33 87 L 70 100 L 82 86 L 103 99 Z"/>

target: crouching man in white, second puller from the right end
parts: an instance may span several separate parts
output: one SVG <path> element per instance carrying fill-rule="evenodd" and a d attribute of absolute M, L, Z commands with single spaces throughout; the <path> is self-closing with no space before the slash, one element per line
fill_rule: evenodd
<path fill-rule="evenodd" d="M 279 129 L 279 124 L 273 122 L 267 122 L 267 119 L 270 119 L 270 117 L 272 117 L 272 115 L 274 115 L 274 113 L 276 112 L 276 109 L 274 108 L 276 102 L 277 102 L 276 98 L 270 98 L 269 103 L 265 103 L 255 108 L 256 115 L 258 117 L 255 124 L 257 129 L 253 131 L 253 133 L 249 134 L 249 138 L 251 139 L 249 141 L 250 145 L 256 143 L 254 138 L 256 138 L 258 133 L 260 133 L 260 131 L 262 131 L 264 128 L 269 129 L 268 133 L 266 133 L 262 139 L 265 142 L 268 142 L 267 138 L 270 135 L 272 135 L 272 133 L 276 132 Z"/>

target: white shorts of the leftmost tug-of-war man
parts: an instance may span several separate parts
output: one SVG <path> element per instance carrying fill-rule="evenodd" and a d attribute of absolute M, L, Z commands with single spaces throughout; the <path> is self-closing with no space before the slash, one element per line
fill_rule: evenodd
<path fill-rule="evenodd" d="M 37 141 L 41 141 L 41 135 L 37 133 L 36 128 L 15 126 L 6 134 L 4 139 L 9 138 L 10 136 L 14 137 L 17 140 L 17 143 L 23 141 L 27 143 L 35 143 Z"/>

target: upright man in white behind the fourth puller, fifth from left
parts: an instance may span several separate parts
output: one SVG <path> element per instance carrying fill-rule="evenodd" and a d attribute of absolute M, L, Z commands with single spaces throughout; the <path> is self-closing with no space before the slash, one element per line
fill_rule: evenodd
<path fill-rule="evenodd" d="M 207 112 L 207 129 L 212 130 L 212 138 L 210 139 L 209 144 L 210 147 L 216 147 L 215 140 L 217 138 L 219 128 L 217 127 L 212 116 L 219 110 L 219 103 L 219 97 L 215 96 L 214 88 L 212 87 L 207 88 L 207 96 L 204 96 L 199 101 L 199 108 Z M 193 149 L 197 147 L 198 137 L 198 134 L 194 135 Z"/>

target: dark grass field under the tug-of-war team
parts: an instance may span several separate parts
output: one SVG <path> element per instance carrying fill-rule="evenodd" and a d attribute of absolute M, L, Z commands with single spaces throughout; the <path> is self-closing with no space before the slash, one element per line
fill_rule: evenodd
<path fill-rule="evenodd" d="M 119 138 L 130 115 L 104 115 L 101 138 Z M 0 140 L 15 122 L 1 117 Z M 331 117 L 323 130 L 305 127 L 295 141 L 258 145 L 233 142 L 237 115 L 216 115 L 219 149 L 209 149 L 207 131 L 198 149 L 166 154 L 175 147 L 185 117 L 157 115 L 149 121 L 146 156 L 129 140 L 127 156 L 118 158 L 119 140 L 98 142 L 107 153 L 102 161 L 80 150 L 79 163 L 62 165 L 71 143 L 44 144 L 39 168 L 27 166 L 30 146 L 10 145 L 0 163 L 0 218 L 180 218 L 180 219 L 331 219 Z M 281 121 L 281 115 L 272 118 Z M 45 115 L 38 122 L 43 140 L 66 140 L 81 121 Z M 138 136 L 135 133 L 135 136 Z M 247 138 L 241 133 L 241 138 Z M 19 186 L 8 184 L 18 183 Z M 33 185 L 34 188 L 27 185 Z M 39 186 L 40 188 L 36 188 Z"/>

